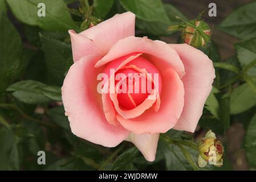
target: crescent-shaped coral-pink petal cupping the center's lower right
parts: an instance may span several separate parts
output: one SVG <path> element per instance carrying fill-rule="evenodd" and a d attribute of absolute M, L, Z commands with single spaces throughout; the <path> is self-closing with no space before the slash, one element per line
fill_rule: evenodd
<path fill-rule="evenodd" d="M 137 118 L 124 119 L 120 114 L 117 120 L 127 130 L 135 134 L 166 133 L 180 118 L 184 105 L 184 86 L 178 74 L 172 68 L 166 68 L 162 73 L 161 105 L 156 113 L 151 107 Z"/>

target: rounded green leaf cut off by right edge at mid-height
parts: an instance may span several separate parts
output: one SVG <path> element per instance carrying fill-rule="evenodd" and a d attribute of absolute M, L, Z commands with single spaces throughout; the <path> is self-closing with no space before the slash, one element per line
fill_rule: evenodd
<path fill-rule="evenodd" d="M 256 94 L 248 84 L 235 88 L 230 96 L 230 114 L 239 114 L 256 105 Z"/>

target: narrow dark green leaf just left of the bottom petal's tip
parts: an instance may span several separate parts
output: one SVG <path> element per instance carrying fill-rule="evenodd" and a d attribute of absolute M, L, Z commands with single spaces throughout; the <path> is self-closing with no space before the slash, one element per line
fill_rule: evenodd
<path fill-rule="evenodd" d="M 120 170 L 127 167 L 129 164 L 132 163 L 133 159 L 136 158 L 139 150 L 136 147 L 129 148 L 129 150 L 125 151 L 121 154 L 113 163 L 112 170 Z"/>

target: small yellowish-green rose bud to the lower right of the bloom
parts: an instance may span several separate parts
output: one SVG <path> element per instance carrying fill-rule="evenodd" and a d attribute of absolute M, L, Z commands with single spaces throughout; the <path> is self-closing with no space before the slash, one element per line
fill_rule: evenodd
<path fill-rule="evenodd" d="M 207 163 L 216 167 L 222 166 L 224 147 L 212 130 L 209 130 L 205 138 L 201 139 L 198 150 L 198 165 L 200 167 L 205 167 Z"/>

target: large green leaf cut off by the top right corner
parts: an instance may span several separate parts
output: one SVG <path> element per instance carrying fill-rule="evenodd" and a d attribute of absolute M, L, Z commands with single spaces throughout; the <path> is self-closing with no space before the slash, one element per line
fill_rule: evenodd
<path fill-rule="evenodd" d="M 256 2 L 249 3 L 233 11 L 220 24 L 220 30 L 239 39 L 249 39 L 256 36 Z"/>

